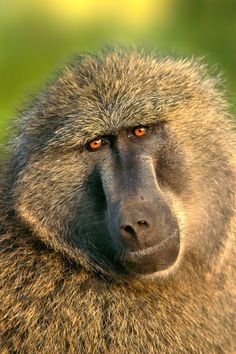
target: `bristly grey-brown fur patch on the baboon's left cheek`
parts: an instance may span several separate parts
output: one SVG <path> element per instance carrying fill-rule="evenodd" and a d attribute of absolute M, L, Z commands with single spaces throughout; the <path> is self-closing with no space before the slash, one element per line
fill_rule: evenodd
<path fill-rule="evenodd" d="M 18 210 L 24 209 L 49 228 L 65 228 L 71 212 L 79 207 L 84 175 L 88 168 L 79 155 L 32 158 L 16 185 L 14 196 Z M 88 166 L 89 167 L 89 166 Z M 81 171 L 83 173 L 81 173 Z M 30 223 L 30 220 L 26 220 Z"/>

